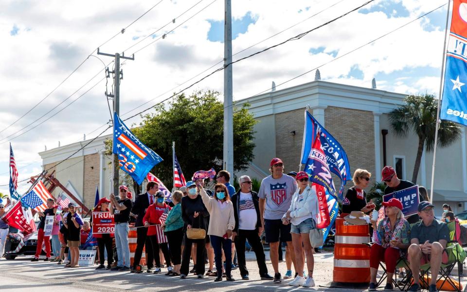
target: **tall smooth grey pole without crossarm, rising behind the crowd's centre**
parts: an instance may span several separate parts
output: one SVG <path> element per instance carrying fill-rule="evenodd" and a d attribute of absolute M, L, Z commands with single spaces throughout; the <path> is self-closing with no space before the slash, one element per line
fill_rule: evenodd
<path fill-rule="evenodd" d="M 224 67 L 232 63 L 232 0 L 225 0 Z M 232 64 L 224 69 L 224 169 L 234 177 L 234 106 Z"/>

